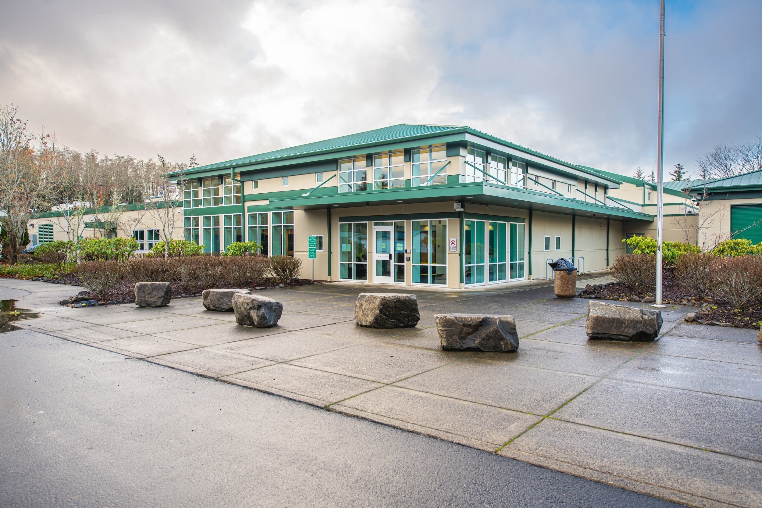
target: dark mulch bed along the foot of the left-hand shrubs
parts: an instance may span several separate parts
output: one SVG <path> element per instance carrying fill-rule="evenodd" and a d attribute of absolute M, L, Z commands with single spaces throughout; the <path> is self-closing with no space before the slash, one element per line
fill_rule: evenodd
<path fill-rule="evenodd" d="M 43 281 L 43 282 L 51 282 L 53 284 L 64 284 L 64 285 L 79 285 L 79 278 L 76 275 L 62 275 L 61 278 L 53 279 L 53 278 L 46 278 L 46 277 L 35 277 L 31 278 L 32 281 Z M 210 289 L 207 286 L 202 285 L 196 285 L 193 287 L 185 287 L 181 285 L 180 282 L 170 282 L 172 286 L 172 297 L 173 298 L 185 298 L 185 297 L 200 297 L 201 291 L 204 289 Z M 328 284 L 328 281 L 312 281 L 312 279 L 299 279 L 295 281 L 291 281 L 290 284 L 286 284 L 283 281 L 278 281 L 276 279 L 268 279 L 266 281 L 263 281 L 262 285 L 259 286 L 252 286 L 251 288 L 247 288 L 251 291 L 262 291 L 264 289 L 273 289 L 273 288 L 294 288 L 296 286 L 306 286 L 311 284 Z M 214 288 L 231 288 L 235 287 L 235 285 L 229 285 L 229 284 L 218 284 L 215 285 Z M 98 297 L 98 294 L 91 293 L 89 291 L 80 291 L 80 294 L 82 296 L 88 297 L 91 300 L 98 300 L 99 304 L 101 305 L 116 305 L 116 304 L 132 304 L 135 301 L 135 283 L 134 282 L 119 282 L 117 285 L 114 286 L 114 288 L 111 288 L 104 297 Z M 73 294 L 70 296 L 74 296 Z"/>

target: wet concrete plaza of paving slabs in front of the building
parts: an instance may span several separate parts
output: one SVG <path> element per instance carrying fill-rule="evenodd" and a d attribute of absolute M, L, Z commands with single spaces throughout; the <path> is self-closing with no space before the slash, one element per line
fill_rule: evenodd
<path fill-rule="evenodd" d="M 258 330 L 199 299 L 71 309 L 56 301 L 78 289 L 0 284 L 30 291 L 18 306 L 42 315 L 22 326 L 63 339 L 679 503 L 762 505 L 762 346 L 753 330 L 683 323 L 692 307 L 665 309 L 658 341 L 626 343 L 588 341 L 588 302 L 547 286 L 261 291 L 285 311 Z M 418 327 L 354 325 L 358 293 L 401 289 Z M 443 352 L 434 314 L 453 311 L 513 315 L 519 351 Z"/>

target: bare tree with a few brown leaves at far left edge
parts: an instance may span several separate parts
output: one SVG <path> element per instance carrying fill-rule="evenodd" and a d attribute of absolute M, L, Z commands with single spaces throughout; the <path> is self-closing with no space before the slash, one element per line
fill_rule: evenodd
<path fill-rule="evenodd" d="M 0 227 L 11 263 L 24 248 L 29 220 L 55 202 L 62 175 L 56 137 L 44 131 L 34 136 L 17 115 L 13 104 L 0 108 Z"/>

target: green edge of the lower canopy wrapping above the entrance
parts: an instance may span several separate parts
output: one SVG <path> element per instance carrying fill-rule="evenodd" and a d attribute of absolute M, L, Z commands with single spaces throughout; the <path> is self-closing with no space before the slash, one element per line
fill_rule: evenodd
<path fill-rule="evenodd" d="M 373 202 L 373 204 L 391 204 L 396 201 L 408 202 L 437 202 L 437 201 L 459 201 L 466 197 L 470 201 L 481 204 L 495 204 L 504 207 L 518 207 L 526 209 L 545 209 L 548 213 L 559 214 L 602 214 L 604 217 L 610 216 L 615 219 L 623 220 L 654 220 L 651 214 L 642 212 L 623 210 L 622 208 L 607 207 L 601 204 L 585 203 L 576 199 L 565 198 L 562 196 L 550 195 L 548 193 L 531 191 L 528 189 L 516 189 L 503 187 L 485 182 L 469 182 L 458 185 L 431 185 L 424 188 L 399 188 L 386 189 L 383 191 L 364 191 L 347 192 L 330 196 L 306 196 L 299 198 L 272 199 L 272 207 L 315 209 L 325 208 L 332 205 L 362 206 L 364 203 Z M 512 206 L 517 202 L 518 206 Z M 546 205 L 545 208 L 542 205 Z M 601 217 L 601 218 L 604 218 Z"/>

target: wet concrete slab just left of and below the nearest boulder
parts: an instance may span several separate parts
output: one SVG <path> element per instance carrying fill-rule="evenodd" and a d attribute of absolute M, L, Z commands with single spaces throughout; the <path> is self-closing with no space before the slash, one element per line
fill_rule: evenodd
<path fill-rule="evenodd" d="M 392 383 L 469 356 L 469 353 L 411 349 L 386 342 L 371 342 L 291 363 L 370 381 Z"/>

